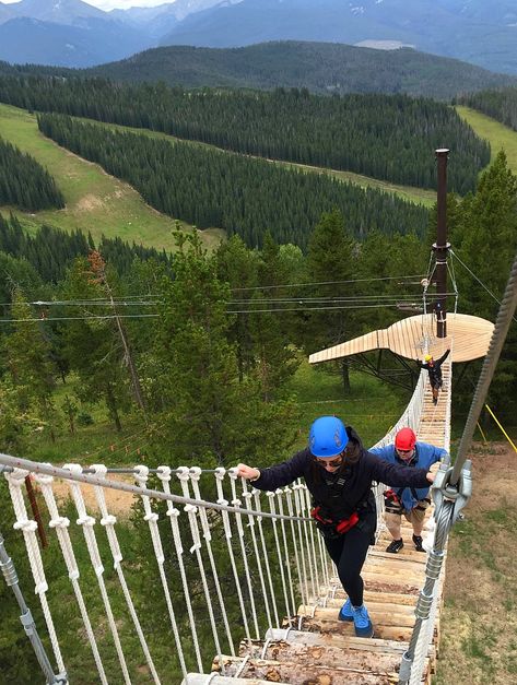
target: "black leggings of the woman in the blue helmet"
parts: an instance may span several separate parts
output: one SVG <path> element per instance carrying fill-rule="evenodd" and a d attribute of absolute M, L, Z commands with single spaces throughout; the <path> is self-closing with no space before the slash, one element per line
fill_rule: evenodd
<path fill-rule="evenodd" d="M 338 568 L 338 576 L 353 606 L 363 603 L 361 569 L 372 542 L 372 534 L 352 528 L 336 539 L 325 538 L 325 546 Z"/>

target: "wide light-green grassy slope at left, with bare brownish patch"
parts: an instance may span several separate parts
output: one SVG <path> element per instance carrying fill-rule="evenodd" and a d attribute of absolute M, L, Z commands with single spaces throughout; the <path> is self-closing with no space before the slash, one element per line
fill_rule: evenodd
<path fill-rule="evenodd" d="M 158 249 L 174 248 L 173 219 L 145 204 L 128 184 L 43 137 L 37 130 L 34 115 L 0 105 L 0 135 L 48 168 L 64 194 L 64 210 L 47 210 L 36 214 L 13 210 L 28 229 L 46 222 L 64 231 L 90 231 L 95 239 L 104 234 Z M 190 228 L 187 224 L 181 225 L 186 229 Z M 208 245 L 213 245 L 222 237 L 222 232 L 204 231 L 201 235 Z"/>

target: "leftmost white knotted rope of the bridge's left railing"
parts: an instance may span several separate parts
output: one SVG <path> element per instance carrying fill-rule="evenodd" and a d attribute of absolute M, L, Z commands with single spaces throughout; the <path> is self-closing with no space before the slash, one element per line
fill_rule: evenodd
<path fill-rule="evenodd" d="M 22 469 L 13 469 L 11 473 L 5 473 L 5 480 L 9 483 L 9 492 L 11 500 L 13 503 L 14 513 L 16 516 L 16 522 L 14 523 L 15 530 L 23 532 L 25 541 L 25 547 L 27 550 L 28 562 L 31 564 L 31 570 L 35 582 L 34 591 L 39 598 L 42 610 L 45 616 L 45 623 L 47 624 L 48 635 L 52 646 L 56 663 L 61 673 L 66 672 L 64 663 L 59 649 L 59 642 L 56 635 L 56 628 L 54 626 L 52 616 L 47 601 L 48 583 L 45 577 L 43 567 L 42 554 L 39 552 L 39 545 L 36 536 L 37 523 L 34 520 L 27 518 L 27 509 L 22 494 L 22 484 L 25 482 L 28 471 Z"/>

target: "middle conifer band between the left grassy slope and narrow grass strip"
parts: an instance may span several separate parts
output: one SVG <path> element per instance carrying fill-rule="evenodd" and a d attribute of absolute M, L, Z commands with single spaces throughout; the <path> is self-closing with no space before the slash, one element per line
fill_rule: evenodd
<path fill-rule="evenodd" d="M 130 182 L 152 206 L 200 228 L 219 226 L 261 246 L 267 231 L 279 243 L 305 248 L 318 216 L 338 208 L 356 236 L 372 231 L 418 233 L 427 211 L 377 190 L 263 160 L 191 143 L 150 139 L 62 115 L 40 115 L 43 133 Z"/>

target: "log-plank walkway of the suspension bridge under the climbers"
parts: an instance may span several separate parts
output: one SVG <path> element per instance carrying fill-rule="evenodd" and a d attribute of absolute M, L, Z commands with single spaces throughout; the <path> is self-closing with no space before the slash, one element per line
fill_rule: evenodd
<path fill-rule="evenodd" d="M 447 448 L 450 367 L 449 361 L 443 366 L 444 388 L 436 406 L 432 402 L 431 389 L 426 386 L 418 430 L 420 440 Z M 424 527 L 424 544 L 425 529 L 432 542 L 432 528 L 430 508 Z M 270 640 L 255 641 L 251 647 L 243 642 L 238 658 L 224 657 L 226 675 L 234 678 L 228 680 L 228 683 L 250 683 L 250 680 L 256 684 L 277 682 L 289 685 L 398 683 L 400 661 L 408 649 L 415 621 L 414 607 L 424 586 L 427 557 L 413 548 L 411 534 L 411 525 L 403 520 L 402 535 L 406 546 L 399 554 L 389 554 L 386 546 L 390 536 L 383 530 L 363 567 L 365 603 L 374 623 L 374 638 L 357 638 L 353 623 L 338 621 L 339 610 L 346 595 L 336 577 L 331 580 L 330 588 L 320 588 L 316 607 L 299 606 L 299 630 L 273 630 L 270 633 Z M 440 602 L 442 587 L 438 592 Z M 439 626 L 439 615 L 436 626 Z M 425 685 L 431 683 L 435 670 L 437 627 L 425 662 L 422 680 Z M 214 670 L 219 671 L 218 661 L 214 662 Z M 219 676 L 215 682 L 223 685 L 224 681 L 225 678 Z"/>

